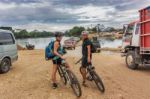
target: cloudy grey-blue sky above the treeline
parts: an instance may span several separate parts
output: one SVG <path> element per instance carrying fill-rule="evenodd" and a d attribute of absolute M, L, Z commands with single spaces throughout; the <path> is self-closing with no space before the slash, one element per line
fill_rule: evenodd
<path fill-rule="evenodd" d="M 97 24 L 121 28 L 138 20 L 150 0 L 0 0 L 0 26 L 14 29 L 66 31 Z"/>

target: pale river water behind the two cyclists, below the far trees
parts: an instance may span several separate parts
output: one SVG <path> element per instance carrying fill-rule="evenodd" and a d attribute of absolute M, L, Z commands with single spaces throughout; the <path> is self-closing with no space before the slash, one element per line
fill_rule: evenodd
<path fill-rule="evenodd" d="M 63 44 L 63 42 L 68 38 L 69 37 L 63 37 L 61 43 Z M 17 39 L 17 43 L 25 47 L 25 45 L 29 42 L 30 44 L 35 45 L 35 49 L 44 49 L 51 40 L 54 40 L 54 37 Z M 106 38 L 101 38 L 100 43 L 102 47 L 118 48 L 118 46 L 121 46 L 122 41 L 121 39 L 109 40 Z"/>

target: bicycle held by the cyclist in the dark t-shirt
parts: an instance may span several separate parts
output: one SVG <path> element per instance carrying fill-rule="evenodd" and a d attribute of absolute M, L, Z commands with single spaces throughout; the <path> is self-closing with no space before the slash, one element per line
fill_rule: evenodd
<path fill-rule="evenodd" d="M 81 60 L 82 60 L 82 58 L 79 61 L 77 61 L 75 64 L 78 64 Z M 87 71 L 87 74 L 88 74 L 87 79 L 90 80 L 90 81 L 94 80 L 94 82 L 95 82 L 96 86 L 98 87 L 99 91 L 104 93 L 105 92 L 105 87 L 104 87 L 103 81 L 101 80 L 100 76 L 96 73 L 95 67 L 92 66 L 92 65 L 88 65 L 87 68 L 86 68 L 86 71 Z M 81 67 L 80 67 L 80 72 L 81 72 Z"/>

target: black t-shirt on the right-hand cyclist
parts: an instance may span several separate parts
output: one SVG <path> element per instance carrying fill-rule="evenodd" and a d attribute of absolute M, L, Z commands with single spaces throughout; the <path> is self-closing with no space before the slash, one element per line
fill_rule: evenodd
<path fill-rule="evenodd" d="M 85 39 L 83 41 L 83 44 L 82 44 L 82 56 L 83 57 L 88 57 L 88 49 L 87 49 L 87 46 L 88 45 L 91 45 L 92 42 L 89 40 L 89 39 Z M 92 53 L 91 53 L 91 56 L 92 56 Z"/>

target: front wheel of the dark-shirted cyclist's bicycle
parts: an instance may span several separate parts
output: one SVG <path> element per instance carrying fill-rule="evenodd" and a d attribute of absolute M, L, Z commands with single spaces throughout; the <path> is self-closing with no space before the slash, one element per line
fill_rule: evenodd
<path fill-rule="evenodd" d="M 105 92 L 105 87 L 104 87 L 104 84 L 103 84 L 101 78 L 97 75 L 96 72 L 92 72 L 91 76 L 92 76 L 96 86 L 98 87 L 99 91 L 104 93 Z"/>

